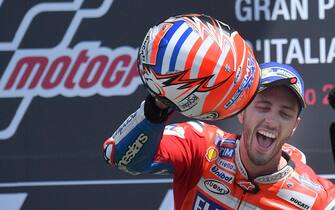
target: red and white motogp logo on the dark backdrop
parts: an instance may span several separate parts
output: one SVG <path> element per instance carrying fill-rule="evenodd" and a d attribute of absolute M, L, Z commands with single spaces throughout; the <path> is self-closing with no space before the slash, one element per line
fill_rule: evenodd
<path fill-rule="evenodd" d="M 51 98 L 129 95 L 141 84 L 137 49 L 102 47 L 100 41 L 81 41 L 69 48 L 84 19 L 101 18 L 113 0 L 97 8 L 82 7 L 84 0 L 39 3 L 23 16 L 12 40 L 0 42 L 1 52 L 13 55 L 0 79 L 0 98 L 21 98 L 13 119 L 0 130 L 0 140 L 12 137 L 34 97 Z M 2 1 L 0 1 L 0 9 Z M 19 46 L 34 18 L 42 13 L 72 12 L 61 41 L 53 48 Z M 52 23 L 51 23 L 52 24 Z"/>

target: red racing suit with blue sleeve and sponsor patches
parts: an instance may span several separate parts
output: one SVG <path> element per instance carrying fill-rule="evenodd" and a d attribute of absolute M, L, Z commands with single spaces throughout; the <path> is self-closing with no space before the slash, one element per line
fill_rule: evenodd
<path fill-rule="evenodd" d="M 143 105 L 103 145 L 108 163 L 131 174 L 173 174 L 175 209 L 335 209 L 335 186 L 285 144 L 288 164 L 248 179 L 239 137 L 200 121 L 164 126 Z"/>

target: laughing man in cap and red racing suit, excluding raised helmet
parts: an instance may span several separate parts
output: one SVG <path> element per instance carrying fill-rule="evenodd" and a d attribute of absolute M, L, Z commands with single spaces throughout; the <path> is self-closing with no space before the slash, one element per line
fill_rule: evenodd
<path fill-rule="evenodd" d="M 166 125 L 169 104 L 149 95 L 105 141 L 105 160 L 135 175 L 172 174 L 176 210 L 335 209 L 334 184 L 287 144 L 305 107 L 301 76 L 276 62 L 261 71 L 238 114 L 241 135 L 202 121 Z"/>

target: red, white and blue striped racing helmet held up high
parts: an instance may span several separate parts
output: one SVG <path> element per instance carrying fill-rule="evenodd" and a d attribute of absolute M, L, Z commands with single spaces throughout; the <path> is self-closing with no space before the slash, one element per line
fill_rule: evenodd
<path fill-rule="evenodd" d="M 201 120 L 240 112 L 257 93 L 261 72 L 239 33 L 204 14 L 170 17 L 150 28 L 138 69 L 152 95 Z"/>

